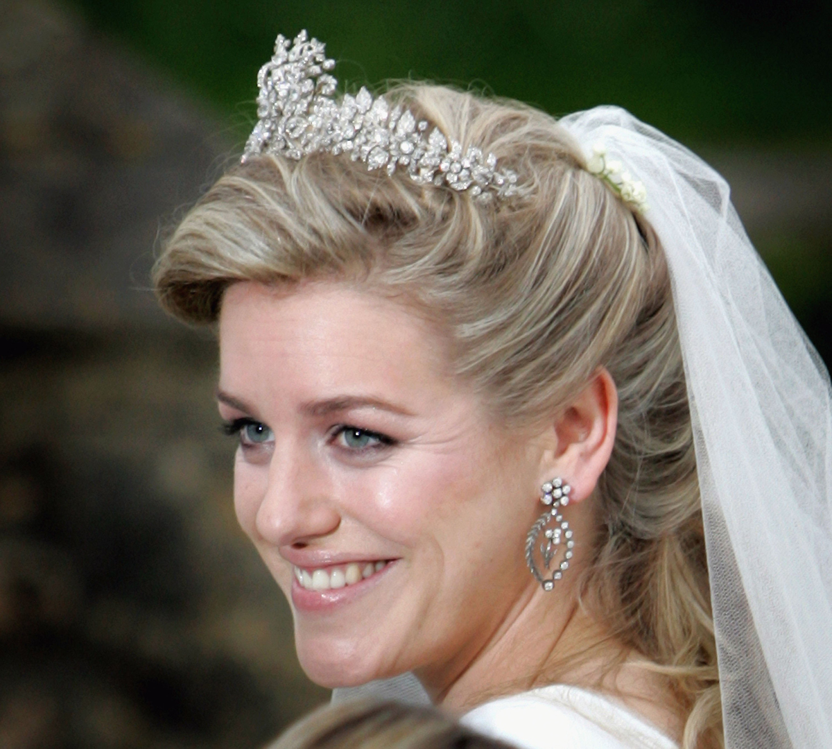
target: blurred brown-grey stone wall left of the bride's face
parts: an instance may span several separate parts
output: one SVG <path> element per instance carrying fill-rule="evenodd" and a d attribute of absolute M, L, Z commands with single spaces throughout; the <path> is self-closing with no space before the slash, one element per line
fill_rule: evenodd
<path fill-rule="evenodd" d="M 146 290 L 225 162 L 181 92 L 0 0 L 0 747 L 257 747 L 328 693 L 237 527 L 215 342 Z"/>

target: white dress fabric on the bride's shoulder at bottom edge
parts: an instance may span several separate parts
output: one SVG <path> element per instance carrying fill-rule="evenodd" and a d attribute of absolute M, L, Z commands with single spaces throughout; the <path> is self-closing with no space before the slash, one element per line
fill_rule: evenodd
<path fill-rule="evenodd" d="M 461 722 L 520 749 L 678 749 L 626 707 L 564 684 L 486 702 Z"/>

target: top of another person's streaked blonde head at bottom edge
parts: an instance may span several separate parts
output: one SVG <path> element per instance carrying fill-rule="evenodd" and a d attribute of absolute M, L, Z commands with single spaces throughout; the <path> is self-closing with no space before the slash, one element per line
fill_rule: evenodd
<path fill-rule="evenodd" d="M 509 749 L 430 707 L 343 702 L 320 707 L 269 749 Z"/>

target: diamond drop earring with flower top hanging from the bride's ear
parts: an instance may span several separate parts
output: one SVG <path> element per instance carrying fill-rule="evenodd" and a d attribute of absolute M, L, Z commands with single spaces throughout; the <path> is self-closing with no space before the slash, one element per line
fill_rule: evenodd
<path fill-rule="evenodd" d="M 563 573 L 569 567 L 569 560 L 572 558 L 572 548 L 575 546 L 575 542 L 572 540 L 572 530 L 561 513 L 561 508 L 566 507 L 569 503 L 569 493 L 571 491 L 572 487 L 569 484 L 564 484 L 563 479 L 552 479 L 542 485 L 540 501 L 546 505 L 546 512 L 537 518 L 526 537 L 526 563 L 535 580 L 547 592 L 555 587 L 556 580 L 563 577 Z M 537 539 L 540 538 L 541 532 L 543 533 L 543 540 L 538 549 Z M 563 553 L 561 562 L 552 572 L 552 560 L 557 555 L 562 542 L 566 551 Z M 543 572 L 535 562 L 538 550 L 542 558 Z M 547 577 L 549 573 L 551 573 L 551 577 Z"/>

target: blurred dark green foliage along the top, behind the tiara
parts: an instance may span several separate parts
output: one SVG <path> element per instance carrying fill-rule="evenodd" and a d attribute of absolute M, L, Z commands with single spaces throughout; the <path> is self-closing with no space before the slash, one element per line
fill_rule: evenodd
<path fill-rule="evenodd" d="M 67 0 L 235 112 L 277 32 L 327 42 L 348 85 L 488 87 L 564 113 L 619 104 L 672 136 L 811 145 L 832 136 L 825 0 Z"/>

